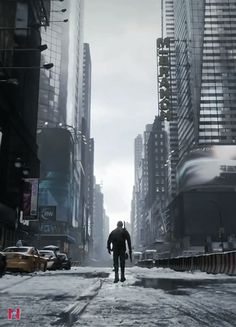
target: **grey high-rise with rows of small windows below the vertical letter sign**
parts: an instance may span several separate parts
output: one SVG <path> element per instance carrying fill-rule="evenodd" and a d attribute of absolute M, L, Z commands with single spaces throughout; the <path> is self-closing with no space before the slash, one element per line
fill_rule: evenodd
<path fill-rule="evenodd" d="M 143 245 L 155 247 L 167 204 L 167 133 L 161 117 L 155 117 L 147 142 L 148 188 L 143 207 Z M 165 230 L 165 226 L 164 226 Z"/>

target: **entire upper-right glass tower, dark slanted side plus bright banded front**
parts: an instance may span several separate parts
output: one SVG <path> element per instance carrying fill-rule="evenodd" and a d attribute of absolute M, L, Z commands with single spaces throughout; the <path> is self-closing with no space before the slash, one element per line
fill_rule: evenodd
<path fill-rule="evenodd" d="M 174 0 L 181 154 L 235 142 L 235 13 L 235 0 Z"/>

